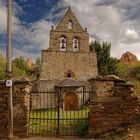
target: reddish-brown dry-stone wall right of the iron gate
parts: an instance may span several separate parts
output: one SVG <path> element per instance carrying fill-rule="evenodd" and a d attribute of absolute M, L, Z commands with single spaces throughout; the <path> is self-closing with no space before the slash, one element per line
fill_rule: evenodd
<path fill-rule="evenodd" d="M 106 79 L 91 80 L 91 84 L 94 96 L 90 102 L 89 136 L 125 131 L 139 115 L 139 100 L 134 96 L 134 86 L 122 80 Z M 98 84 L 100 88 L 96 88 Z M 98 94 L 101 89 L 102 94 Z"/>

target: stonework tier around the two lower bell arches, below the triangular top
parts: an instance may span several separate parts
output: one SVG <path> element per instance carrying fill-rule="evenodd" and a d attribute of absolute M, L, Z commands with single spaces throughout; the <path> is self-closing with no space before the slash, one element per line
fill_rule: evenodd
<path fill-rule="evenodd" d="M 73 52 L 73 39 L 77 37 L 79 40 L 80 52 L 89 52 L 89 35 L 87 32 L 71 32 L 71 31 L 51 31 L 49 50 L 60 51 L 60 37 L 65 36 L 67 39 L 67 52 Z"/>

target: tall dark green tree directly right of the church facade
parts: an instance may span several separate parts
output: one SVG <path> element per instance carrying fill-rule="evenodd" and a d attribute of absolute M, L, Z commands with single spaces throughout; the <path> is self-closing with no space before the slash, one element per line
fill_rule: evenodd
<path fill-rule="evenodd" d="M 118 60 L 110 57 L 111 44 L 98 41 L 91 42 L 89 45 L 90 51 L 97 53 L 97 66 L 99 75 L 116 74 L 116 64 Z"/>

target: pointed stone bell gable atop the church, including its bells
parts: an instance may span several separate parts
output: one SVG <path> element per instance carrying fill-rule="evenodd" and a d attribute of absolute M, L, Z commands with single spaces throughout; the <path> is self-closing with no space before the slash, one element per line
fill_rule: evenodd
<path fill-rule="evenodd" d="M 87 31 L 83 30 L 69 7 L 58 26 L 50 31 L 49 50 L 88 52 L 88 43 L 89 35 Z"/>

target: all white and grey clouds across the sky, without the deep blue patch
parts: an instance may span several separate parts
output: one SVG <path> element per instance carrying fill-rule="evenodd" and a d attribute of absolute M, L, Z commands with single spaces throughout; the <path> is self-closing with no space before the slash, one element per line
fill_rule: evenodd
<path fill-rule="evenodd" d="M 23 0 L 27 1 L 27 0 Z M 45 18 L 55 19 L 64 15 L 64 10 L 56 13 L 57 9 L 67 7 L 69 0 L 62 0 L 50 10 L 44 19 L 28 26 L 16 15 L 24 13 L 23 9 L 14 3 L 13 37 L 20 42 L 14 49 L 14 55 L 40 55 L 41 49 L 47 49 L 49 31 L 52 23 Z M 73 0 L 71 7 L 81 25 L 87 27 L 90 40 L 94 37 L 109 41 L 112 44 L 112 55 L 120 57 L 125 51 L 132 51 L 140 58 L 140 15 L 139 0 Z M 55 13 L 55 15 L 52 15 Z M 59 22 L 59 21 L 58 21 Z M 6 30 L 5 0 L 0 0 L 0 33 Z"/>

